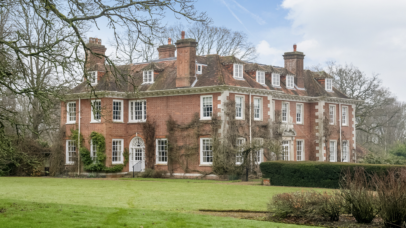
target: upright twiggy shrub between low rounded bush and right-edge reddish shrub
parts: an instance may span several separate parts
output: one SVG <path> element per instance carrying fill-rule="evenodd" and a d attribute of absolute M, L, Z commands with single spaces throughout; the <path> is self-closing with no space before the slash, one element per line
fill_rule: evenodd
<path fill-rule="evenodd" d="M 341 180 L 340 195 L 344 210 L 352 213 L 358 223 L 370 223 L 378 214 L 377 197 L 361 167 L 347 170 Z"/>

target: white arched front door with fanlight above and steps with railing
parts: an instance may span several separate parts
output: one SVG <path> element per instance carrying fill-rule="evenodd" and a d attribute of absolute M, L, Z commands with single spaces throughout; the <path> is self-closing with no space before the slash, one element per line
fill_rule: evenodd
<path fill-rule="evenodd" d="M 145 144 L 140 137 L 134 137 L 130 142 L 130 172 L 133 166 L 136 172 L 145 170 Z"/>

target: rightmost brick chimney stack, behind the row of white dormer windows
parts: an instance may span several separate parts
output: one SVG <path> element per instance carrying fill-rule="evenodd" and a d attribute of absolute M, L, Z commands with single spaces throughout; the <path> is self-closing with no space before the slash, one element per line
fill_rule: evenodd
<path fill-rule="evenodd" d="M 285 68 L 296 74 L 295 84 L 298 88 L 304 88 L 303 78 L 303 52 L 296 51 L 296 43 L 293 45 L 293 52 L 285 52 L 283 59 L 285 60 Z"/>

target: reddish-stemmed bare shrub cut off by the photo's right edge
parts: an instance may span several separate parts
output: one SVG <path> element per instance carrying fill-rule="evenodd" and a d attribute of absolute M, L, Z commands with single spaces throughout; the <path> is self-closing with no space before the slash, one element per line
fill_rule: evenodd
<path fill-rule="evenodd" d="M 404 227 L 406 222 L 406 168 L 392 168 L 387 176 L 373 176 L 379 215 L 386 227 Z"/>

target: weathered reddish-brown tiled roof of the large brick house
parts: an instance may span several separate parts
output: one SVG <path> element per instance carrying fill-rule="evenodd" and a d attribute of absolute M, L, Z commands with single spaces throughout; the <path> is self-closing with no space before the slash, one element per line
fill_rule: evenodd
<path fill-rule="evenodd" d="M 153 60 L 151 62 L 131 64 L 118 66 L 117 70 L 119 74 L 113 72 L 114 69 L 108 69 L 106 75 L 95 85 L 95 90 L 99 91 L 117 91 L 117 92 L 134 92 L 136 88 L 139 91 L 151 91 L 151 90 L 166 90 L 176 88 L 176 74 L 177 65 L 176 57 Z M 240 86 L 245 88 L 254 89 L 267 89 L 283 92 L 289 95 L 309 96 L 309 97 L 337 97 L 348 98 L 337 89 L 333 88 L 333 92 L 327 92 L 324 86 L 319 84 L 315 80 L 317 75 L 329 76 L 324 71 L 312 72 L 304 70 L 304 88 L 298 89 L 296 86 L 294 89 L 286 88 L 285 80 L 281 80 L 280 87 L 272 86 L 270 78 L 265 78 L 265 85 L 261 85 L 256 82 L 255 77 L 248 75 L 251 70 L 263 70 L 266 72 L 279 72 L 281 75 L 295 75 L 283 67 L 272 67 L 271 65 L 259 65 L 257 63 L 244 63 L 235 56 L 219 56 L 217 54 L 196 56 L 196 62 L 204 64 L 201 74 L 196 74 L 197 81 L 194 87 L 203 86 Z M 233 77 L 232 72 L 229 70 L 229 65 L 225 63 L 238 62 L 244 64 L 243 80 L 238 80 Z M 206 66 L 207 65 L 207 66 Z M 106 71 L 104 65 L 95 66 L 95 70 Z M 143 84 L 143 71 L 156 70 L 154 74 L 153 84 Z M 330 77 L 330 76 L 329 76 Z M 269 79 L 269 80 L 268 80 Z M 295 82 L 297 77 L 295 76 Z M 72 89 L 72 93 L 90 92 L 86 82 L 82 82 L 78 86 Z"/>

